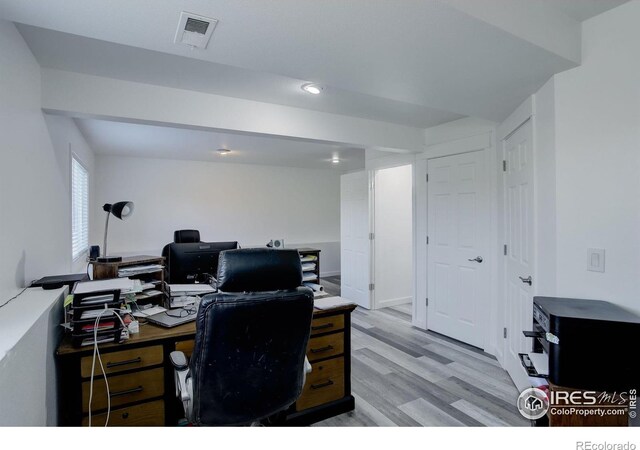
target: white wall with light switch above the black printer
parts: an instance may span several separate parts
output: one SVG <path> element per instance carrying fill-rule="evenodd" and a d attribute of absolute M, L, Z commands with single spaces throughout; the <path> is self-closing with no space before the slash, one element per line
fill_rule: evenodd
<path fill-rule="evenodd" d="M 640 313 L 640 2 L 583 24 L 583 64 L 555 79 L 558 294 Z M 588 272 L 587 248 L 606 250 Z"/>

